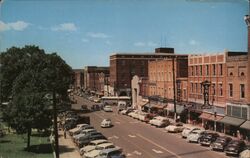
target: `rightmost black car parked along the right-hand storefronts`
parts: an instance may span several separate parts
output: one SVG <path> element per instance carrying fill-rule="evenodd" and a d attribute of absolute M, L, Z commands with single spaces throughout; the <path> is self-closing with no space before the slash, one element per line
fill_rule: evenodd
<path fill-rule="evenodd" d="M 245 148 L 246 144 L 243 140 L 232 140 L 225 148 L 226 155 L 239 155 Z"/>

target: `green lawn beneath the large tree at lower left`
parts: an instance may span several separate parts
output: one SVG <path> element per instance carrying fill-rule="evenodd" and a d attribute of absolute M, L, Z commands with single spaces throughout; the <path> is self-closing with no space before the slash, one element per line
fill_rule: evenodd
<path fill-rule="evenodd" d="M 30 151 L 26 151 L 27 135 L 7 134 L 0 138 L 0 158 L 53 158 L 48 137 L 31 136 Z"/>

